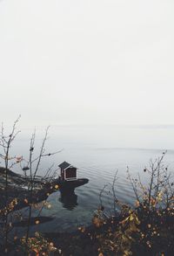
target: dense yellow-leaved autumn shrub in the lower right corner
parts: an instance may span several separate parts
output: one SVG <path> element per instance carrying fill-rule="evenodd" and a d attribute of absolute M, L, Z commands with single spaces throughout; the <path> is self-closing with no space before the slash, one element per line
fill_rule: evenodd
<path fill-rule="evenodd" d="M 149 183 L 140 176 L 128 179 L 135 192 L 135 206 L 122 204 L 113 193 L 117 215 L 106 217 L 104 205 L 93 218 L 99 253 L 117 256 L 164 256 L 174 252 L 174 190 L 171 173 L 164 167 L 164 155 L 145 168 Z M 111 195 L 111 192 L 110 192 Z M 102 196 L 102 195 L 101 195 Z M 102 209 L 102 210 L 101 210 Z"/>

